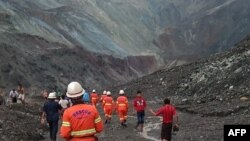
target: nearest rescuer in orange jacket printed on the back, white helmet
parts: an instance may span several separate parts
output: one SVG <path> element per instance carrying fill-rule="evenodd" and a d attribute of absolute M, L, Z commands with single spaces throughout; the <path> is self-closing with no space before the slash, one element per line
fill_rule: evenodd
<path fill-rule="evenodd" d="M 84 104 L 84 92 L 78 82 L 68 85 L 66 95 L 73 106 L 64 111 L 60 132 L 67 141 L 97 141 L 95 134 L 103 130 L 103 122 L 95 106 Z"/>

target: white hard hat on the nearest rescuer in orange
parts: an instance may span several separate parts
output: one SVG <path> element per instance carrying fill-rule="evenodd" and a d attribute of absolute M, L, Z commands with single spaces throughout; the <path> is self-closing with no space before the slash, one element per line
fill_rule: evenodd
<path fill-rule="evenodd" d="M 82 88 L 79 82 L 71 82 L 68 85 L 66 95 L 69 98 L 75 98 L 75 97 L 79 97 L 83 95 L 84 93 L 85 93 L 85 90 Z"/>

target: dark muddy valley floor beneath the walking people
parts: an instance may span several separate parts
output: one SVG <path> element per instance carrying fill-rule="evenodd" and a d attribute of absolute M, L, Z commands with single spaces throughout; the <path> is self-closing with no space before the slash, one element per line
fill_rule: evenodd
<path fill-rule="evenodd" d="M 38 102 L 39 103 L 39 102 Z M 148 108 L 157 109 L 160 101 L 148 101 Z M 49 141 L 48 127 L 40 125 L 40 104 L 21 103 L 13 105 L 12 109 L 0 106 L 0 139 L 2 141 Z M 177 106 L 178 107 L 178 106 Z M 100 109 L 100 108 L 98 108 Z M 103 118 L 103 112 L 100 110 Z M 249 123 L 250 114 L 240 116 L 207 116 L 178 110 L 180 131 L 173 133 L 173 141 L 223 141 L 225 124 Z M 104 120 L 104 118 L 103 118 Z M 114 114 L 111 124 L 106 124 L 102 133 L 98 134 L 100 141 L 159 141 L 161 118 L 152 116 L 146 111 L 144 131 L 134 129 L 136 115 L 130 107 L 128 127 L 122 128 L 117 115 Z M 58 137 L 58 141 L 63 141 Z"/>

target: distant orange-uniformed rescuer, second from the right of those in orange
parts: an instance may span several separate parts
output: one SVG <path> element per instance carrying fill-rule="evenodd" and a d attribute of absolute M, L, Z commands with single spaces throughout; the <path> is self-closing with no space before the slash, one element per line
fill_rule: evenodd
<path fill-rule="evenodd" d="M 103 99 L 103 102 L 102 102 L 103 111 L 106 117 L 105 124 L 110 123 L 111 118 L 112 118 L 112 113 L 114 110 L 114 106 L 115 106 L 115 103 L 114 103 L 113 98 L 111 97 L 111 92 L 107 91 L 107 96 Z"/>

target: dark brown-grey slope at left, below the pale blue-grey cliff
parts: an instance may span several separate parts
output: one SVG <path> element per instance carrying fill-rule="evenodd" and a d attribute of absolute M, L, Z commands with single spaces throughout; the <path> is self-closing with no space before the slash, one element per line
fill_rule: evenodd
<path fill-rule="evenodd" d="M 42 88 L 63 90 L 70 81 L 79 81 L 89 90 L 127 82 L 156 69 L 153 56 L 119 59 L 28 34 L 0 38 L 1 88 L 15 88 L 21 82 L 36 93 Z M 148 60 L 150 64 L 142 63 Z"/>

